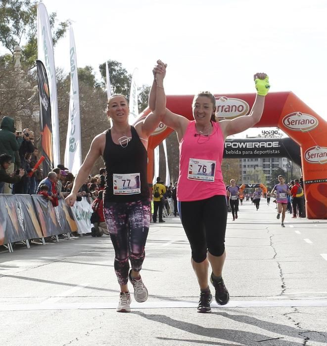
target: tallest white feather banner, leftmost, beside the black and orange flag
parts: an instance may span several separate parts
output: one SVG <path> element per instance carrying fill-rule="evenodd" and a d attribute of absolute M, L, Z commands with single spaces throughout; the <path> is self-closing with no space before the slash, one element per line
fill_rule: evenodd
<path fill-rule="evenodd" d="M 38 4 L 38 60 L 41 60 L 47 70 L 47 79 L 49 82 L 50 106 L 51 106 L 51 126 L 52 126 L 52 146 L 53 146 L 53 164 L 60 164 L 59 149 L 59 119 L 57 103 L 57 85 L 55 80 L 55 67 L 53 56 L 53 43 L 51 27 L 47 8 L 44 3 Z"/>

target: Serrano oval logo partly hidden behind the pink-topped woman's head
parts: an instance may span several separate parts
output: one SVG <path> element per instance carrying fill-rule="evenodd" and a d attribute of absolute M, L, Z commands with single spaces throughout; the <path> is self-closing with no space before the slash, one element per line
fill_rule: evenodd
<path fill-rule="evenodd" d="M 249 112 L 249 105 L 239 98 L 216 97 L 217 118 L 233 119 Z"/>

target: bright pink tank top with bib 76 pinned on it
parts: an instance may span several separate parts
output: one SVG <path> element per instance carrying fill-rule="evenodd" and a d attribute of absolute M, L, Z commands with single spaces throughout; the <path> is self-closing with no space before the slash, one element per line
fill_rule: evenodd
<path fill-rule="evenodd" d="M 209 136 L 199 134 L 195 121 L 189 122 L 180 143 L 180 175 L 177 199 L 199 201 L 215 195 L 226 196 L 221 163 L 224 136 L 218 123 L 213 123 Z"/>

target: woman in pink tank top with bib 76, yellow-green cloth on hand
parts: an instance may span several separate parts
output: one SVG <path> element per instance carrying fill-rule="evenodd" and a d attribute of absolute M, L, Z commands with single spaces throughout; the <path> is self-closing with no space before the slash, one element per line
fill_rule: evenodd
<path fill-rule="evenodd" d="M 158 105 L 161 109 L 166 104 L 162 90 L 167 65 L 161 61 L 157 63 L 153 69 L 155 79 L 149 96 L 152 110 Z M 193 121 L 167 108 L 161 118 L 166 126 L 177 132 L 180 143 L 179 215 L 190 243 L 191 263 L 200 286 L 197 311 L 202 313 L 211 311 L 209 265 L 216 302 L 220 305 L 229 302 L 229 293 L 222 278 L 226 258 L 227 200 L 221 162 L 226 137 L 254 126 L 262 116 L 269 80 L 265 73 L 255 74 L 254 80 L 257 97 L 246 116 L 217 123 L 215 96 L 204 91 L 194 96 Z"/>

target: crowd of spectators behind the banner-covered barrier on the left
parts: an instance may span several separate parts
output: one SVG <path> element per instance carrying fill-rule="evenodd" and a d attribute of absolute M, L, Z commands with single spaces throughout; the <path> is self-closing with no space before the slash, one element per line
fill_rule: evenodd
<path fill-rule="evenodd" d="M 60 198 L 71 191 L 74 175 L 63 165 L 58 165 L 47 176 L 41 167 L 38 148 L 34 145 L 34 132 L 28 128 L 16 129 L 13 118 L 3 117 L 0 125 L 0 193 L 40 194 L 55 207 Z M 78 199 L 88 197 L 90 202 L 98 198 L 105 184 L 105 169 L 89 176 L 78 193 Z"/>

